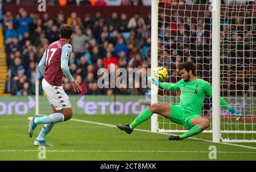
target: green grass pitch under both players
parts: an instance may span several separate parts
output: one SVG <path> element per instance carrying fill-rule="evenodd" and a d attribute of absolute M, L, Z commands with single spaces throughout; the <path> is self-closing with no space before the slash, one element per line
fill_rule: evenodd
<path fill-rule="evenodd" d="M 24 115 L 0 116 L 0 160 L 40 160 L 38 146 L 27 133 Z M 45 160 L 256 160 L 256 143 L 215 144 L 212 134 L 201 133 L 183 141 L 168 141 L 168 134 L 151 133 L 150 120 L 131 135 L 115 124 L 131 123 L 134 115 L 73 115 L 73 119 L 55 124 L 46 137 Z M 93 121 L 95 123 L 87 123 Z M 106 125 L 102 125 L 102 123 Z M 208 141 L 207 141 L 208 140 Z M 209 146 L 216 146 L 216 159 L 209 159 Z"/>

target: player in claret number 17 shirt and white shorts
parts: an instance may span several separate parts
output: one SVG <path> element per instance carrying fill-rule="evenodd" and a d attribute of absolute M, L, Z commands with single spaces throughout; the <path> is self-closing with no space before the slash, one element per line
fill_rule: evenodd
<path fill-rule="evenodd" d="M 72 53 L 72 34 L 73 27 L 69 24 L 64 24 L 60 27 L 60 40 L 50 44 L 43 57 L 40 60 L 38 68 L 43 74 L 42 87 L 45 91 L 49 104 L 52 107 L 52 114 L 40 118 L 29 117 L 28 135 L 32 137 L 32 133 L 36 125 L 43 124 L 43 128 L 39 136 L 34 140 L 34 145 L 52 146 L 44 139 L 51 131 L 55 123 L 67 121 L 72 118 L 73 112 L 68 95 L 61 86 L 63 74 L 69 79 L 77 92 L 82 91 L 79 82 L 75 81 L 69 72 L 68 61 Z"/>

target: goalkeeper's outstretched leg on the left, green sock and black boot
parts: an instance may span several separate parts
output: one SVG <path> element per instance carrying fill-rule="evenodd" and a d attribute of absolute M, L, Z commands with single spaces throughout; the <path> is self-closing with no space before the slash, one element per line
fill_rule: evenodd
<path fill-rule="evenodd" d="M 133 123 L 127 125 L 117 124 L 117 127 L 130 134 L 131 132 L 133 132 L 133 129 L 137 127 L 137 125 L 141 124 L 143 121 L 150 119 L 154 113 L 169 119 L 171 114 L 171 107 L 169 104 L 151 104 L 151 106 L 146 108 L 146 110 L 138 115 Z"/>

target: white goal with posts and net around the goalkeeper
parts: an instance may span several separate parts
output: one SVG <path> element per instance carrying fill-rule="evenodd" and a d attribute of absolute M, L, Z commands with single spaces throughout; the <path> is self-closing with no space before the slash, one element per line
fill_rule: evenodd
<path fill-rule="evenodd" d="M 151 0 L 151 69 L 165 66 L 170 74 L 166 82 L 175 82 L 179 78 L 172 67 L 182 61 L 195 60 L 201 66 L 196 66 L 197 77 L 209 79 L 213 88 L 212 100 L 205 102 L 201 114 L 211 122 L 209 129 L 204 132 L 212 133 L 213 142 L 256 142 L 256 90 L 251 88 L 256 84 L 253 59 L 256 54 L 255 2 L 227 2 L 221 5 L 221 0 L 212 0 L 211 4 L 199 5 Z M 210 16 L 207 16 L 209 12 Z M 208 26 L 205 23 L 207 21 L 210 21 Z M 195 35 L 191 25 L 195 27 Z M 205 34 L 205 26 L 209 27 L 208 35 Z M 203 41 L 199 38 L 200 27 L 204 31 Z M 179 33 L 179 30 L 183 33 Z M 176 42 L 172 43 L 173 40 Z M 183 43 L 181 47 L 179 41 Z M 185 51 L 189 57 L 180 55 L 185 54 Z M 170 59 L 166 60 L 166 57 Z M 177 91 L 173 95 L 151 84 L 151 104 L 177 104 L 179 94 Z M 236 116 L 230 112 L 222 110 L 220 96 L 242 112 L 240 121 L 236 121 Z M 154 114 L 151 131 L 172 133 L 188 130 Z"/>

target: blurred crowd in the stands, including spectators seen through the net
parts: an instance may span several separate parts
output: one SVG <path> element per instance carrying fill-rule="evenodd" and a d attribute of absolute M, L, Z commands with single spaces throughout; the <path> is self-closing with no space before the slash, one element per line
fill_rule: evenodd
<path fill-rule="evenodd" d="M 5 0 L 5 2 L 11 2 Z M 56 3 L 56 1 L 47 1 Z M 73 2 L 73 1 L 67 1 Z M 97 2 L 100 2 L 99 0 Z M 135 2 L 135 1 L 130 1 Z M 141 1 L 136 1 L 141 2 Z M 88 3 L 89 4 L 89 3 Z M 250 28 L 255 20 L 250 18 L 229 19 L 222 14 L 221 19 L 221 62 L 222 64 L 246 64 L 252 57 L 256 57 L 256 27 Z M 164 21 L 164 22 L 163 22 Z M 144 68 L 146 72 L 151 64 L 151 14 L 142 18 L 136 12 L 131 18 L 127 14 L 113 12 L 104 18 L 101 12 L 95 16 L 85 15 L 80 18 L 76 12 L 65 16 L 59 11 L 56 18 L 50 18 L 44 12 L 40 18 L 38 14 L 28 14 L 22 7 L 18 15 L 10 11 L 3 14 L 3 30 L 7 54 L 9 75 L 6 79 L 6 93 L 13 95 L 35 94 L 36 65 L 43 56 L 49 44 L 60 39 L 59 27 L 61 24 L 73 26 L 73 52 L 69 59 L 71 74 L 77 81 L 81 81 L 83 91 L 75 93 L 67 78 L 63 78 L 63 87 L 67 94 L 145 94 L 142 79 L 135 81 L 138 89 L 129 89 L 122 86 L 117 89 L 99 89 L 97 86 L 98 69 L 109 69 L 110 64 L 117 68 Z M 179 81 L 176 66 L 179 62 L 192 60 L 197 64 L 197 76 L 210 82 L 210 57 L 212 46 L 211 14 L 205 11 L 204 17 L 181 18 L 177 12 L 172 17 L 160 13 L 159 15 L 159 65 L 170 70 L 167 82 Z M 246 23 L 246 24 L 244 24 Z M 231 46 L 231 47 L 230 47 Z M 233 49 L 233 51 L 229 51 Z M 245 51 L 244 51 L 245 50 Z M 231 57 L 231 58 L 230 58 Z M 225 61 L 228 60 L 228 61 Z M 249 61 L 248 61 L 249 60 Z M 251 63 L 250 63 L 251 64 Z M 256 64 L 256 63 L 255 63 Z M 228 71 L 226 66 L 221 66 Z M 250 68 L 250 66 L 249 66 Z M 246 71 L 238 66 L 237 75 Z M 230 70 L 230 71 L 233 71 Z M 251 70 L 248 70 L 251 71 Z M 256 71 L 256 70 L 255 70 Z M 248 83 L 256 78 L 253 73 L 247 73 Z M 115 79 L 118 77 L 116 75 Z M 230 73 L 221 73 L 222 78 L 229 79 Z M 42 75 L 40 75 L 42 79 Z M 243 79 L 243 77 L 241 77 Z M 251 81 L 251 79 L 254 79 Z M 225 83 L 225 80 L 223 80 Z M 241 81 L 241 87 L 244 86 Z M 256 80 L 254 81 L 256 82 Z M 229 82 L 230 83 L 230 82 Z M 231 85 L 233 85 L 231 81 Z M 225 87 L 225 84 L 222 85 Z M 40 86 L 40 94 L 43 94 Z M 240 90 L 240 86 L 237 87 Z M 246 85 L 246 90 L 255 89 L 253 85 Z M 230 88 L 229 88 L 230 89 Z M 241 89 L 243 90 L 243 89 Z M 253 92 L 254 93 L 254 92 Z"/>

